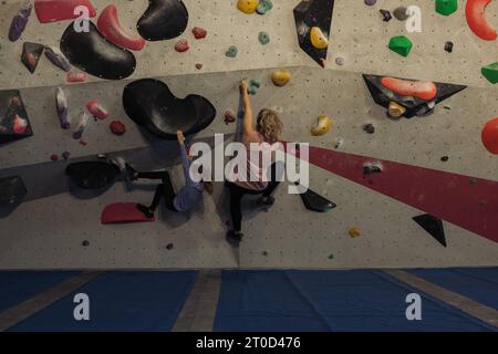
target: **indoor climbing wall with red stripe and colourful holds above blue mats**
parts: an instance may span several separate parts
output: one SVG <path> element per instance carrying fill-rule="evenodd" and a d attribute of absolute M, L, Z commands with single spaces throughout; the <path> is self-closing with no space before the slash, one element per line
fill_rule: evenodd
<path fill-rule="evenodd" d="M 457 1 L 454 12 L 446 9 L 449 15 L 436 12 L 436 1 L 314 2 L 322 2 L 326 11 L 318 11 L 319 7 L 310 14 L 305 4 L 294 12 L 300 1 L 273 0 L 264 14 L 247 14 L 237 9 L 237 1 L 185 0 L 188 24 L 180 35 L 146 41 L 142 50 L 133 51 L 136 67 L 129 76 L 103 80 L 87 74 L 82 83 L 69 83 L 68 73 L 44 54 L 34 74 L 21 62 L 24 41 L 59 45 L 70 20 L 40 23 L 33 10 L 21 38 L 11 42 L 11 18 L 22 1 L 0 4 L 0 108 L 13 122 L 9 137 L 15 137 L 0 140 L 0 181 L 20 176 L 25 188 L 15 185 L 20 200 L 0 208 L 0 268 L 496 266 L 498 167 L 490 152 L 496 140 L 490 138 L 489 149 L 481 138 L 483 127 L 498 110 L 496 87 L 481 74 L 483 66 L 497 60 L 496 41 L 481 40 L 469 29 L 466 1 Z M 136 37 L 136 22 L 148 1 L 92 3 L 97 17 L 115 4 L 122 25 Z M 421 33 L 407 32 L 406 20 L 394 17 L 401 6 L 412 4 L 422 10 Z M 387 11 L 393 15 L 384 21 Z M 497 4 L 490 4 L 488 19 L 497 11 Z M 313 38 L 307 32 L 313 25 L 310 21 L 320 28 Z M 198 37 L 199 29 L 207 35 L 196 39 L 195 27 Z M 145 25 L 141 31 L 147 37 Z M 390 41 L 400 35 L 405 38 L 391 42 L 390 50 Z M 452 53 L 445 51 L 448 41 L 454 44 Z M 38 49 L 30 48 L 34 54 Z M 75 67 L 79 60 L 81 55 L 71 60 L 71 73 L 84 72 Z M 290 82 L 280 73 L 274 84 L 277 70 L 287 70 Z M 125 87 L 143 79 L 155 79 L 157 86 L 135 101 L 137 90 L 123 104 Z M 287 192 L 287 183 L 270 210 L 256 208 L 249 197 L 243 205 L 246 238 L 239 249 L 225 241 L 229 215 L 222 183 L 215 184 L 214 194 L 205 194 L 203 205 L 188 215 L 162 208 L 154 222 L 102 225 L 106 206 L 147 204 L 155 183 L 129 183 L 117 176 L 105 188 L 83 190 L 66 176 L 66 167 L 122 157 L 137 169 L 172 170 L 179 188 L 177 144 L 151 131 L 145 118 L 139 126 L 146 114 L 133 113 L 166 84 L 183 102 L 196 95 L 195 112 L 212 118 L 193 140 L 216 146 L 214 134 L 225 134 L 228 143 L 236 123 L 226 121 L 227 112 L 237 112 L 241 79 L 252 81 L 256 110 L 271 107 L 281 114 L 284 140 L 310 143 L 310 188 L 335 207 L 323 210 L 328 212 L 309 210 L 300 196 Z M 151 104 L 167 105 L 169 101 L 159 96 Z M 90 102 L 104 110 L 93 111 Z M 172 114 L 174 124 L 193 116 L 181 112 Z M 87 123 L 80 131 L 83 114 Z M 71 128 L 64 128 L 66 123 Z M 23 134 L 15 133 L 20 128 Z M 105 157 L 97 159 L 97 154 Z"/>

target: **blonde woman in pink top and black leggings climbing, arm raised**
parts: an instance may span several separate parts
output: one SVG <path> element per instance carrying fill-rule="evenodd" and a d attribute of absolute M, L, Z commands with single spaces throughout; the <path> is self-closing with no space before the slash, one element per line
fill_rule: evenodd
<path fill-rule="evenodd" d="M 271 165 L 271 178 L 268 183 L 263 179 L 263 176 L 267 175 L 268 171 L 263 170 L 261 166 L 262 158 L 259 158 L 259 166 L 255 165 L 249 158 L 251 155 L 251 143 L 268 143 L 273 145 L 279 142 L 283 128 L 282 122 L 280 121 L 278 114 L 272 110 L 261 110 L 258 114 L 255 127 L 252 107 L 249 100 L 248 84 L 246 81 L 242 81 L 240 84 L 240 94 L 242 96 L 243 105 L 242 144 L 247 148 L 247 173 L 252 176 L 251 178 L 248 176 L 247 180 L 229 178 L 229 180 L 226 181 L 226 187 L 230 190 L 230 215 L 232 227 L 232 229 L 227 232 L 227 241 L 232 246 L 238 246 L 243 238 L 241 232 L 242 197 L 245 195 L 262 195 L 258 200 L 258 205 L 271 207 L 274 202 L 274 198 L 271 195 L 279 185 L 276 178 L 276 164 Z M 274 155 L 272 153 L 272 160 L 273 158 Z"/>

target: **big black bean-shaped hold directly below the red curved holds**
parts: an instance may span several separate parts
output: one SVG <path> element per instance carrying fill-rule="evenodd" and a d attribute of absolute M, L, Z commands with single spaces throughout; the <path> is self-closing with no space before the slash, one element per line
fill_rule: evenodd
<path fill-rule="evenodd" d="M 128 77 L 136 66 L 133 53 L 108 42 L 92 22 L 90 31 L 81 33 L 71 23 L 62 35 L 61 51 L 71 64 L 101 79 Z"/>

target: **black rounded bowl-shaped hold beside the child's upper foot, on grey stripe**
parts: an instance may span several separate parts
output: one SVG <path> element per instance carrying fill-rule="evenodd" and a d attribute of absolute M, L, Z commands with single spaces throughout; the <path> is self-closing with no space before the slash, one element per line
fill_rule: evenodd
<path fill-rule="evenodd" d="M 107 162 L 83 162 L 68 166 L 65 174 L 83 189 L 101 189 L 110 186 L 120 174 L 120 168 Z"/>

